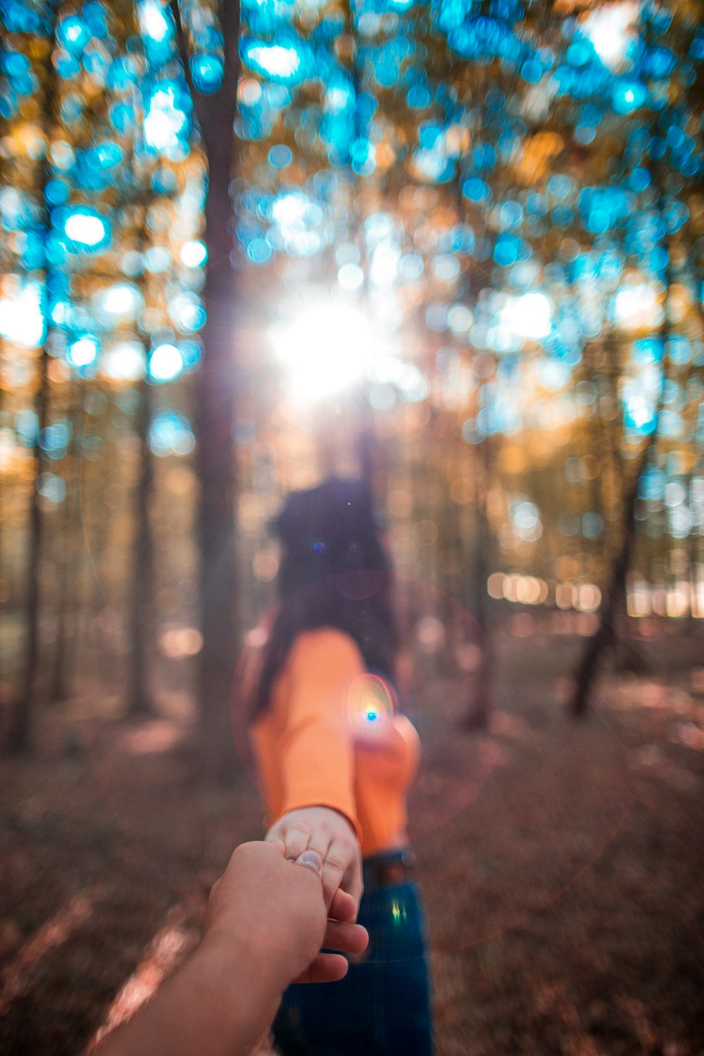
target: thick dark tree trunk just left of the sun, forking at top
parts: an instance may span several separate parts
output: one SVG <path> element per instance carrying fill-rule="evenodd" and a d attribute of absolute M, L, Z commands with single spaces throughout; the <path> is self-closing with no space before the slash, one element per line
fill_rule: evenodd
<path fill-rule="evenodd" d="M 187 42 L 177 0 L 171 0 L 178 48 L 191 89 L 203 145 L 208 155 L 208 194 L 204 240 L 208 247 L 203 293 L 207 322 L 203 362 L 195 376 L 195 464 L 201 485 L 201 628 L 198 697 L 202 760 L 207 779 L 220 781 L 235 766 L 230 729 L 232 675 L 241 648 L 235 616 L 237 568 L 234 535 L 234 422 L 236 290 L 232 251 L 230 180 L 234 161 L 232 126 L 239 75 L 240 3 L 220 5 L 225 73 L 218 92 L 198 96 L 188 65 Z"/>

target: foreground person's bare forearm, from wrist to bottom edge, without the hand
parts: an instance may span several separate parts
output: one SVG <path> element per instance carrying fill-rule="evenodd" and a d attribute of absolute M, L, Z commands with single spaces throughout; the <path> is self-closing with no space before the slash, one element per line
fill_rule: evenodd
<path fill-rule="evenodd" d="M 92 1056 L 244 1056 L 273 1019 L 284 985 L 253 950 L 206 941 Z"/>

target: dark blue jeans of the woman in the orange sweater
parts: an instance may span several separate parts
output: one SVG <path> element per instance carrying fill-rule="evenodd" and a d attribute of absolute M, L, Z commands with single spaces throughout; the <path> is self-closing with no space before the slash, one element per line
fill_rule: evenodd
<path fill-rule="evenodd" d="M 369 932 L 338 983 L 294 984 L 273 1021 L 283 1056 L 433 1056 L 425 914 L 413 882 L 364 892 Z"/>

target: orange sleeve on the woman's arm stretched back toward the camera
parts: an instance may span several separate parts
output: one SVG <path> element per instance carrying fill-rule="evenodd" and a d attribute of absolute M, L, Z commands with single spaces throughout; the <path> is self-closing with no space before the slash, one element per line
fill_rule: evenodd
<path fill-rule="evenodd" d="M 342 631 L 323 628 L 301 635 L 286 664 L 286 722 L 277 746 L 284 793 L 281 814 L 298 807 L 331 807 L 349 818 L 358 838 L 347 692 L 363 672 L 359 648 Z"/>

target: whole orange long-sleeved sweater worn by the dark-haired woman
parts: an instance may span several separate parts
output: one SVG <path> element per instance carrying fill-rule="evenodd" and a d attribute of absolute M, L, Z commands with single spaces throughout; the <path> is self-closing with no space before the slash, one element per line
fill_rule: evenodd
<path fill-rule="evenodd" d="M 331 627 L 300 635 L 250 731 L 267 824 L 298 807 L 332 807 L 355 825 L 364 856 L 394 846 L 419 740 L 389 704 L 351 638 Z"/>

